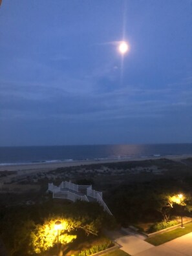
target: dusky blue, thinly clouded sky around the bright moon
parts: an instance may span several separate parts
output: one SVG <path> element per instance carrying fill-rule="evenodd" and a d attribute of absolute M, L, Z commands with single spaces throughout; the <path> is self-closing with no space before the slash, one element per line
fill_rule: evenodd
<path fill-rule="evenodd" d="M 192 142 L 191 47 L 191 0 L 3 1 L 0 145 Z"/>

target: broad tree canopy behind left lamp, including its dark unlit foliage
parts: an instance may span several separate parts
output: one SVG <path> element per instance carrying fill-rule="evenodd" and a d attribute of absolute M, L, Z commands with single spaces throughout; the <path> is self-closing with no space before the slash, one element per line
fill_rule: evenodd
<path fill-rule="evenodd" d="M 1 209 L 0 235 L 10 255 L 36 255 L 57 244 L 55 222 L 61 222 L 59 242 L 65 246 L 81 235 L 98 235 L 113 218 L 95 202 L 45 202 Z M 112 221 L 111 221 L 112 220 Z"/>

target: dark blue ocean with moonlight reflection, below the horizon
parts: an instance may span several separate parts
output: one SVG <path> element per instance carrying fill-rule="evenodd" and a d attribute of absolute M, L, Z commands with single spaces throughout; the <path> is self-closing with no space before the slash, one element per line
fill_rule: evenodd
<path fill-rule="evenodd" d="M 0 147 L 0 165 L 192 155 L 192 144 Z"/>

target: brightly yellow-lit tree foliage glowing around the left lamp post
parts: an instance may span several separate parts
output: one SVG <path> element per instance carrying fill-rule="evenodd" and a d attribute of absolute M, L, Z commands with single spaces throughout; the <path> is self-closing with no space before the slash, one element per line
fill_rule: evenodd
<path fill-rule="evenodd" d="M 61 222 L 59 228 L 59 244 L 65 246 L 77 238 L 75 234 L 78 229 L 83 229 L 87 235 L 97 235 L 100 219 L 90 220 L 86 217 L 81 219 L 52 217 L 45 220 L 43 224 L 37 224 L 36 228 L 30 234 L 29 253 L 41 253 L 54 247 L 58 240 L 58 231 L 54 228 L 56 220 Z"/>

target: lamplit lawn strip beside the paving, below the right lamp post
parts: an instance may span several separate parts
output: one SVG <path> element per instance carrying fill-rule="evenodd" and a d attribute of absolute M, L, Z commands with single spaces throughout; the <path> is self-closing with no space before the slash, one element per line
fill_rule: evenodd
<path fill-rule="evenodd" d="M 158 246 L 160 244 L 164 244 L 165 242 L 169 242 L 177 237 L 182 237 L 182 235 L 186 235 L 187 233 L 192 232 L 192 222 L 189 222 L 184 225 L 185 228 L 176 228 L 174 230 L 155 235 L 155 237 L 150 237 L 145 239 L 146 242 Z"/>

